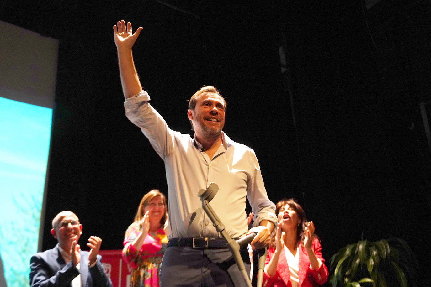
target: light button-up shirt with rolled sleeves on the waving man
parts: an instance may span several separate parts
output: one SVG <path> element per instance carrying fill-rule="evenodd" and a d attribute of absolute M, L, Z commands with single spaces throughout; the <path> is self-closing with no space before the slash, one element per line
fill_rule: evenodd
<path fill-rule="evenodd" d="M 197 196 L 211 182 L 219 186 L 219 191 L 210 205 L 232 238 L 241 238 L 248 230 L 246 197 L 254 213 L 254 225 L 262 220 L 277 224 L 275 205 L 268 199 L 251 148 L 222 133 L 223 145 L 210 159 L 196 139 L 169 129 L 149 100 L 142 91 L 126 99 L 124 106 L 128 119 L 141 128 L 165 162 L 169 238 L 222 237 Z"/>

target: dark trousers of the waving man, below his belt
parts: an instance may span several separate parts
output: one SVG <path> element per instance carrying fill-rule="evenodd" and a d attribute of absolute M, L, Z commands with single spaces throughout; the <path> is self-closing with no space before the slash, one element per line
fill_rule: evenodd
<path fill-rule="evenodd" d="M 247 246 L 241 249 L 247 274 L 250 257 Z M 246 286 L 232 253 L 226 249 L 166 248 L 160 269 L 160 286 L 236 287 Z"/>

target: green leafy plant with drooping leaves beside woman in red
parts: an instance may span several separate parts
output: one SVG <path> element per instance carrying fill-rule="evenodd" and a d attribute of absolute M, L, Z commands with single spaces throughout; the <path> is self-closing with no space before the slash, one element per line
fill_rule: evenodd
<path fill-rule="evenodd" d="M 332 287 L 414 287 L 418 261 L 400 238 L 361 240 L 330 259 Z"/>

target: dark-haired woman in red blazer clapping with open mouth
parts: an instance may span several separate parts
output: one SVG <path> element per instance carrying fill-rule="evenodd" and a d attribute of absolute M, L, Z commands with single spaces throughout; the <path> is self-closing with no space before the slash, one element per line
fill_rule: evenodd
<path fill-rule="evenodd" d="M 294 199 L 276 204 L 278 226 L 272 233 L 263 275 L 263 286 L 315 287 L 325 284 L 328 268 L 322 246 L 303 208 Z"/>

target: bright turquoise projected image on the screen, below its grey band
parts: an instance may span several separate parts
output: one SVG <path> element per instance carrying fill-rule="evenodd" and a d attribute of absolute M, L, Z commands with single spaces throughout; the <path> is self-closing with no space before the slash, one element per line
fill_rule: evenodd
<path fill-rule="evenodd" d="M 52 114 L 0 97 L 0 255 L 8 287 L 28 286 L 37 252 Z"/>

